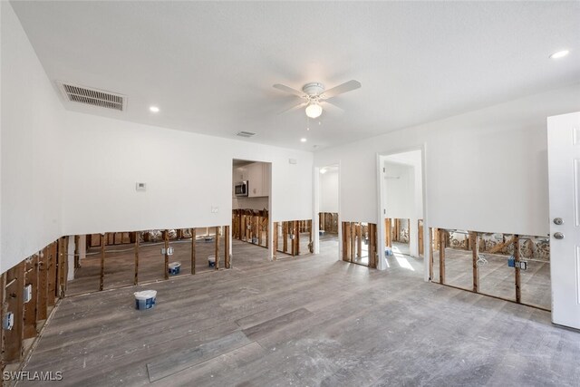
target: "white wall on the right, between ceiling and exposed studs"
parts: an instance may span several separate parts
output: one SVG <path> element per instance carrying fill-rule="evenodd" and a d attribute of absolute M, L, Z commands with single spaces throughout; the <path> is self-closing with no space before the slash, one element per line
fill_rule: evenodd
<path fill-rule="evenodd" d="M 431 227 L 546 235 L 546 117 L 578 105 L 580 83 L 320 150 L 315 165 L 340 160 L 343 220 L 376 223 L 376 154 L 424 144 Z"/>

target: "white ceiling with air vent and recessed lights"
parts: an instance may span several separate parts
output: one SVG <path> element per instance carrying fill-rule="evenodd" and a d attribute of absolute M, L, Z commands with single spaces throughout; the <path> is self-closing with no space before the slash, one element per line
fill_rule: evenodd
<path fill-rule="evenodd" d="M 313 150 L 580 81 L 580 2 L 13 2 L 49 78 L 128 98 L 73 111 Z M 550 60 L 557 50 L 568 57 Z M 338 96 L 306 131 L 306 82 Z M 56 88 L 55 88 L 56 90 Z M 160 113 L 149 106 L 160 107 Z M 307 142 L 302 143 L 300 138 Z"/>

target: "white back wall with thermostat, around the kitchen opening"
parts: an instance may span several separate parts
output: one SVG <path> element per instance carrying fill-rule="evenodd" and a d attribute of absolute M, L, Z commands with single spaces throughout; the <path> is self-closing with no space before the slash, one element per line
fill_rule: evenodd
<path fill-rule="evenodd" d="M 310 152 L 72 111 L 63 149 L 65 235 L 228 225 L 233 159 L 272 163 L 273 221 L 312 216 Z"/>

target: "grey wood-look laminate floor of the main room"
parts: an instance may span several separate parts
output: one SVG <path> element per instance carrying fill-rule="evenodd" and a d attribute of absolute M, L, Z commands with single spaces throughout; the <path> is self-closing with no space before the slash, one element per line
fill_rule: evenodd
<path fill-rule="evenodd" d="M 321 254 L 270 262 L 234 241 L 229 270 L 63 299 L 24 370 L 59 386 L 580 384 L 580 334 L 550 314 Z M 158 304 L 134 309 L 137 289 Z M 21 382 L 18 385 L 35 385 Z"/>

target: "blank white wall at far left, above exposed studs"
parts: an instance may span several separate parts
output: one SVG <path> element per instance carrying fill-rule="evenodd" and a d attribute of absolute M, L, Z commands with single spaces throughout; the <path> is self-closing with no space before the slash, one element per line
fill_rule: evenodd
<path fill-rule="evenodd" d="M 12 5 L 0 7 L 1 273 L 62 235 L 64 111 Z"/>

